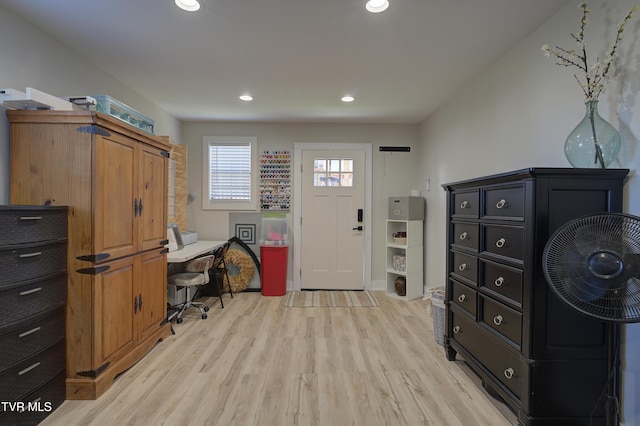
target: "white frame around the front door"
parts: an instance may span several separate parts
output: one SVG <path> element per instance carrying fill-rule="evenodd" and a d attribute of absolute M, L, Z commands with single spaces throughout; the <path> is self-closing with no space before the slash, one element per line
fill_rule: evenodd
<path fill-rule="evenodd" d="M 372 172 L 373 150 L 368 143 L 295 143 L 293 144 L 293 286 L 291 290 L 298 291 L 300 284 L 300 236 L 302 227 L 300 217 L 302 212 L 302 151 L 364 151 L 365 156 L 365 189 L 364 189 L 364 289 L 371 290 L 371 205 L 372 205 Z"/>

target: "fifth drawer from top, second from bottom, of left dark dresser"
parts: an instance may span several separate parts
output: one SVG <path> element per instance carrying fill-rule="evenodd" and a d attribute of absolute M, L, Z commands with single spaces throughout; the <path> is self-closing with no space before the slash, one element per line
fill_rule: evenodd
<path fill-rule="evenodd" d="M 64 371 L 65 344 L 60 340 L 0 373 L 0 401 L 14 401 L 17 395 L 27 395 Z"/>

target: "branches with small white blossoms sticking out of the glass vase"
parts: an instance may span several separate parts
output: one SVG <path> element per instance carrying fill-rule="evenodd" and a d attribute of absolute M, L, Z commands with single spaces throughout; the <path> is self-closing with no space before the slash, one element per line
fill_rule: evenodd
<path fill-rule="evenodd" d="M 604 60 L 601 62 L 600 58 L 596 58 L 596 61 L 589 65 L 587 59 L 587 47 L 584 40 L 585 29 L 589 24 L 589 9 L 586 3 L 580 3 L 582 9 L 582 18 L 580 19 L 580 31 L 575 34 L 571 33 L 571 37 L 577 42 L 577 48 L 564 49 L 556 46 L 555 48 L 549 47 L 548 44 L 542 46 L 542 51 L 546 57 L 555 57 L 557 59 L 556 64 L 565 67 L 576 67 L 584 73 L 584 79 L 578 77 L 577 74 L 573 76 L 578 81 L 578 84 L 582 88 L 587 101 L 597 100 L 601 93 L 604 93 L 604 86 L 609 79 L 609 74 L 613 71 L 614 62 L 616 61 L 616 53 L 618 44 L 622 41 L 624 27 L 627 22 L 633 16 L 633 13 L 638 9 L 637 6 L 632 6 L 631 10 L 618 24 L 616 38 L 609 47 Z"/>

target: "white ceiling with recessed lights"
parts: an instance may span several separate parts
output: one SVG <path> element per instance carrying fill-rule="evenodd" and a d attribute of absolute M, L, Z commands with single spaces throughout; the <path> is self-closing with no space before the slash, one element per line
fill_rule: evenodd
<path fill-rule="evenodd" d="M 0 5 L 181 120 L 418 123 L 567 3 L 389 1 Z"/>

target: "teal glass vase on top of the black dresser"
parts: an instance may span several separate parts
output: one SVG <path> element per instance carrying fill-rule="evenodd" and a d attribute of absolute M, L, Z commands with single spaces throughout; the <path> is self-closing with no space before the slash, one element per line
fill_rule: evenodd
<path fill-rule="evenodd" d="M 618 158 L 620 133 L 598 113 L 598 101 L 585 103 L 582 121 L 564 143 L 564 154 L 576 168 L 605 169 Z"/>

